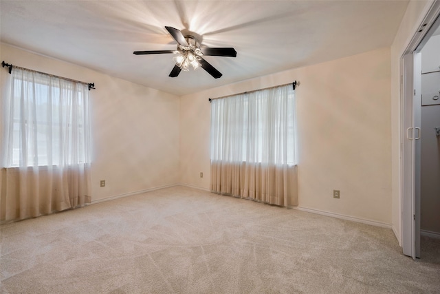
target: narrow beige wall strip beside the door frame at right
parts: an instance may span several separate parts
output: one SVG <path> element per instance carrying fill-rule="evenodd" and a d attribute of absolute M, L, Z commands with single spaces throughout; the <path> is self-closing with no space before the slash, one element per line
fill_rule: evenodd
<path fill-rule="evenodd" d="M 401 189 L 400 189 L 400 59 L 417 32 L 432 1 L 410 1 L 399 30 L 391 45 L 391 160 L 393 231 L 401 244 Z"/>

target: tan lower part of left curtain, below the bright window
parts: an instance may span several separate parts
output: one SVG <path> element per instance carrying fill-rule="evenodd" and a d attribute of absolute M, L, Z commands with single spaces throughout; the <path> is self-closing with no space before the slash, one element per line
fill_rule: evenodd
<path fill-rule="evenodd" d="M 1 220 L 23 220 L 90 203 L 89 178 L 85 165 L 2 169 Z"/>

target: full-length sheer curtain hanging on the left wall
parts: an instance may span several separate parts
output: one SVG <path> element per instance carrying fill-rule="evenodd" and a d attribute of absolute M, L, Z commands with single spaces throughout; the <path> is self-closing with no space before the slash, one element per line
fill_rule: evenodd
<path fill-rule="evenodd" d="M 83 83 L 12 67 L 10 95 L 1 101 L 2 221 L 91 201 L 88 92 Z"/>

